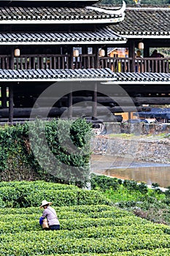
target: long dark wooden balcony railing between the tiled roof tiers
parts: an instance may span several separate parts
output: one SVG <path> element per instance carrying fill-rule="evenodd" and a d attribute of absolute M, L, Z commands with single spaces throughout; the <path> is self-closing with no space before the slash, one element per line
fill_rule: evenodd
<path fill-rule="evenodd" d="M 0 69 L 89 69 L 110 68 L 113 72 L 170 72 L 170 58 L 112 58 L 95 54 L 31 54 L 12 59 L 0 55 Z"/>

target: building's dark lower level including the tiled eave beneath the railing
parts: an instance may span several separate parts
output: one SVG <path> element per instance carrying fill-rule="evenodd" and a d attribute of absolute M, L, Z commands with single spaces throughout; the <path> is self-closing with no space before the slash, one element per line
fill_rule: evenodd
<path fill-rule="evenodd" d="M 65 72 L 65 75 L 64 75 Z M 31 118 L 92 116 L 112 121 L 110 114 L 150 110 L 150 105 L 169 105 L 169 74 L 118 75 L 110 69 L 84 69 L 77 75 L 66 70 L 47 77 L 31 71 L 26 76 L 6 72 L 1 78 L 1 122 Z M 98 78 L 97 72 L 100 73 Z M 8 75 L 7 75 L 8 74 Z M 65 86 L 65 89 L 63 89 Z M 135 89 L 134 89 L 135 88 Z M 36 114 L 35 114 L 36 113 Z"/>

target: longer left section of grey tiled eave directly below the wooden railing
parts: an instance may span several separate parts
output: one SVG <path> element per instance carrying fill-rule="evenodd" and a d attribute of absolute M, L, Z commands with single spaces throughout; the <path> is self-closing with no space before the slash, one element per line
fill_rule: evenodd
<path fill-rule="evenodd" d="M 0 69 L 1 81 L 114 80 L 110 69 Z"/>

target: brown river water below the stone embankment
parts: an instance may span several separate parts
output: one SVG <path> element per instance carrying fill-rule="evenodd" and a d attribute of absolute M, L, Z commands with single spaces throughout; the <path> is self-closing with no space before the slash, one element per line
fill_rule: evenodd
<path fill-rule="evenodd" d="M 112 156 L 94 154 L 91 157 L 91 172 L 144 181 L 147 185 L 156 182 L 160 187 L 170 186 L 170 165 L 166 164 L 136 161 L 136 159 L 115 159 Z"/>

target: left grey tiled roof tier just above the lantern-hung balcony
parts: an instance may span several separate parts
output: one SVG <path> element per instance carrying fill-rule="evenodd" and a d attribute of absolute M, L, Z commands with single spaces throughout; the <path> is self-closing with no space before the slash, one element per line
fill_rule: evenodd
<path fill-rule="evenodd" d="M 0 45 L 12 45 L 18 43 L 18 45 L 30 45 L 35 44 L 72 44 L 72 43 L 104 43 L 104 42 L 122 42 L 126 40 L 123 37 L 118 36 L 114 31 L 110 29 L 97 29 L 96 32 L 57 32 L 57 33 L 0 33 Z"/>

